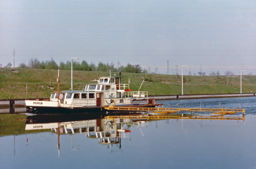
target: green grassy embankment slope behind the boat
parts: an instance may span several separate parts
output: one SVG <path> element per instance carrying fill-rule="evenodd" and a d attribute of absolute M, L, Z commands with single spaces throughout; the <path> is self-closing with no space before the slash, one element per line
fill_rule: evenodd
<path fill-rule="evenodd" d="M 11 69 L 0 69 L 0 99 L 25 99 L 26 85 L 28 85 L 28 99 L 49 98 L 50 93 L 57 91 L 58 70 L 45 69 L 16 69 L 14 73 Z M 109 72 L 74 71 L 73 70 L 73 90 L 82 90 L 86 84 L 95 83 L 98 77 L 108 76 Z M 114 72 L 113 72 L 114 74 Z M 240 76 L 220 77 L 216 76 L 183 76 L 184 94 L 219 94 L 219 93 L 240 93 Z M 128 84 L 131 79 L 130 88 L 138 91 L 145 79 L 140 91 L 148 91 L 149 95 L 175 95 L 181 94 L 181 76 L 160 75 L 160 74 L 139 74 L 122 73 L 121 83 Z M 242 77 L 242 92 L 256 92 L 256 77 Z M 48 86 L 53 87 L 50 89 Z M 60 90 L 69 90 L 71 86 L 71 72 L 60 70 Z"/>

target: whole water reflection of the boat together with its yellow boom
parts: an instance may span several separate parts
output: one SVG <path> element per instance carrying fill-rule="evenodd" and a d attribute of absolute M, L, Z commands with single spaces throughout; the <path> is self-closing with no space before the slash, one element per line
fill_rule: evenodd
<path fill-rule="evenodd" d="M 58 149 L 60 149 L 60 136 L 71 136 L 71 149 L 73 148 L 73 135 L 85 135 L 88 138 L 98 140 L 98 143 L 107 145 L 111 151 L 111 146 L 115 145 L 121 149 L 121 139 L 128 139 L 130 142 L 130 133 L 132 126 L 144 127 L 148 126 L 149 121 L 159 121 L 163 119 L 203 119 L 203 120 L 242 120 L 243 117 L 238 116 L 191 116 L 189 114 L 165 114 L 165 115 L 149 115 L 149 114 L 130 114 L 123 116 L 105 114 L 60 114 L 60 115 L 33 115 L 26 119 L 25 130 L 44 130 L 51 129 L 53 133 L 58 134 Z M 140 129 L 142 135 L 143 132 Z M 77 149 L 79 145 L 77 145 Z"/>

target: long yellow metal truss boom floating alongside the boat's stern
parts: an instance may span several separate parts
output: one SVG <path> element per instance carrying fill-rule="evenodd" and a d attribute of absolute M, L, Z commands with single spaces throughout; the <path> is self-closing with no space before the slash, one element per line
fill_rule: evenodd
<path fill-rule="evenodd" d="M 214 109 L 214 108 L 164 108 L 164 107 L 105 107 L 107 110 L 116 111 L 151 111 L 151 112 L 166 112 L 166 113 L 177 113 L 178 111 L 191 111 L 191 112 L 217 112 L 217 114 L 235 114 L 235 112 L 240 112 L 244 114 L 244 109 Z"/>

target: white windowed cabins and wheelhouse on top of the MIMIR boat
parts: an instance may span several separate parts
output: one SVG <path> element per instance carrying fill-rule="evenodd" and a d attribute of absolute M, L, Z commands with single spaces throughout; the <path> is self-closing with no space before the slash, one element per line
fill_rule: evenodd
<path fill-rule="evenodd" d="M 120 84 L 119 77 L 100 77 L 99 80 L 94 81 L 98 83 L 87 84 L 83 91 L 61 91 L 63 94 L 63 103 L 84 107 L 104 106 L 105 104 L 112 103 L 112 100 L 115 101 L 115 104 L 124 104 L 124 99 L 138 99 L 147 97 L 148 95 L 147 92 L 131 92 L 129 85 Z M 50 100 L 58 100 L 58 93 L 52 92 Z M 145 101 L 140 100 L 139 102 L 144 103 Z M 131 104 L 131 101 L 128 102 Z"/>

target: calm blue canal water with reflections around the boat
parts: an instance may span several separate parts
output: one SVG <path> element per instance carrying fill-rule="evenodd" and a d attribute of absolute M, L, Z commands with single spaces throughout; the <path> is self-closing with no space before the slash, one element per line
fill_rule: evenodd
<path fill-rule="evenodd" d="M 157 101 L 175 108 L 244 108 L 244 115 L 226 115 L 244 120 L 0 114 L 0 168 L 256 168 L 255 99 Z M 216 116 L 176 115 L 182 114 Z"/>

